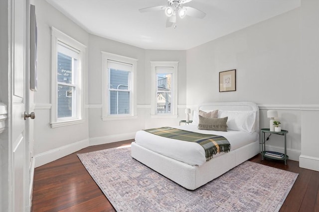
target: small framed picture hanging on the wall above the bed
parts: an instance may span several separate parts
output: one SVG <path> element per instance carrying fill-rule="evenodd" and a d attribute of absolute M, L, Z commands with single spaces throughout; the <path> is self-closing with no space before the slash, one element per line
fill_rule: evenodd
<path fill-rule="evenodd" d="M 236 91 L 236 69 L 219 72 L 219 92 Z"/>

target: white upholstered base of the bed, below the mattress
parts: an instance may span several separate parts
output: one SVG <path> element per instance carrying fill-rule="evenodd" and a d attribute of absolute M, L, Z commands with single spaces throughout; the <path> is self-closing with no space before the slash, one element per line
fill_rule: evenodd
<path fill-rule="evenodd" d="M 144 148 L 136 142 L 132 142 L 131 147 L 133 158 L 189 190 L 195 190 L 219 177 L 259 151 L 259 142 L 255 141 L 213 158 L 201 166 L 191 166 Z"/>

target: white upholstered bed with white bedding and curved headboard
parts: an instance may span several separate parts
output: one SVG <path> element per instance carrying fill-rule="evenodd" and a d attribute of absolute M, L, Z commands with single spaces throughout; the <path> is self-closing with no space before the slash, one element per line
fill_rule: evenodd
<path fill-rule="evenodd" d="M 228 116 L 227 132 L 198 130 L 196 120 L 198 110 L 205 112 L 218 110 L 218 118 Z M 260 152 L 259 108 L 255 103 L 206 103 L 199 106 L 198 110 L 194 111 L 193 124 L 174 128 L 224 136 L 231 144 L 229 152 L 217 153 L 212 159 L 206 161 L 203 156 L 200 156 L 203 150 L 197 143 L 167 139 L 146 131 L 139 131 L 131 145 L 132 157 L 182 187 L 195 190 Z M 238 126 L 239 129 L 236 128 Z M 169 147 L 166 144 L 161 147 L 162 142 L 173 144 Z M 174 142 L 183 142 L 186 146 L 180 147 L 174 145 Z M 180 156 L 182 154 L 184 156 Z M 198 157 L 194 156 L 195 159 L 189 156 L 196 154 Z"/>

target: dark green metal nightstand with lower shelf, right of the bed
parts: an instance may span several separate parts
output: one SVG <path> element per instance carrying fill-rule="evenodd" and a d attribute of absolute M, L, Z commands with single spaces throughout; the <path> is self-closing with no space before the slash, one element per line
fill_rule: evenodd
<path fill-rule="evenodd" d="M 283 157 L 277 156 L 276 154 L 281 154 L 280 152 L 274 152 L 274 156 L 270 155 L 269 153 L 267 153 L 266 151 L 266 133 L 270 133 L 270 134 L 277 134 L 277 135 L 281 135 L 284 136 L 285 139 L 285 153 L 283 154 Z M 269 128 L 264 128 L 260 130 L 260 134 L 262 135 L 262 151 L 261 151 L 261 155 L 262 155 L 262 160 L 264 158 L 271 158 L 274 160 L 284 160 L 285 161 L 285 165 L 287 164 L 287 160 L 289 158 L 289 156 L 287 155 L 287 140 L 286 140 L 286 134 L 288 133 L 287 130 L 281 130 L 281 132 L 274 132 L 274 131 L 270 131 Z M 267 153 L 267 154 L 266 154 Z"/>

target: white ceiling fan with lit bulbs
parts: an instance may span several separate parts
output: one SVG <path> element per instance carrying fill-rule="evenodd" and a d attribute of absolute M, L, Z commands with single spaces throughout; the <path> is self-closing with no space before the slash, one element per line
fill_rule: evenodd
<path fill-rule="evenodd" d="M 176 16 L 180 18 L 184 18 L 186 15 L 196 17 L 196 18 L 204 18 L 206 13 L 190 6 L 183 6 L 184 3 L 187 3 L 191 0 L 167 0 L 167 6 L 151 6 L 139 9 L 140 12 L 153 12 L 164 10 L 165 15 L 167 16 L 166 27 L 171 27 L 174 24 L 174 28 L 176 27 Z"/>

